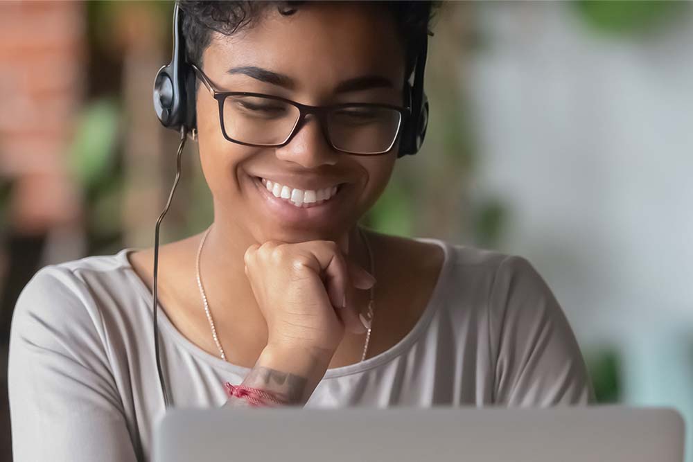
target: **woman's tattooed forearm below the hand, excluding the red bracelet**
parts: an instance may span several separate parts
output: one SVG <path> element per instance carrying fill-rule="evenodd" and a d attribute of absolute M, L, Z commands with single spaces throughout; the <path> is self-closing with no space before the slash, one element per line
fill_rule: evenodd
<path fill-rule="evenodd" d="M 241 385 L 268 391 L 288 405 L 303 406 L 324 377 L 330 358 L 303 348 L 267 346 Z M 248 405 L 245 398 L 232 396 L 225 407 Z"/>

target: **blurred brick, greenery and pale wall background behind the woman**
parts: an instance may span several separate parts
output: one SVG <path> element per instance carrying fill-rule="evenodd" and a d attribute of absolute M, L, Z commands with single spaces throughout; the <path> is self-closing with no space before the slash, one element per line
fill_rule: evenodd
<path fill-rule="evenodd" d="M 693 5 L 446 3 L 423 152 L 364 224 L 528 258 L 604 403 L 693 422 Z M 153 245 L 170 1 L 0 2 L 0 460 L 12 308 L 44 265 Z M 188 149 L 189 148 L 189 149 Z M 194 145 L 162 242 L 211 222 Z M 693 462 L 687 430 L 687 461 Z"/>

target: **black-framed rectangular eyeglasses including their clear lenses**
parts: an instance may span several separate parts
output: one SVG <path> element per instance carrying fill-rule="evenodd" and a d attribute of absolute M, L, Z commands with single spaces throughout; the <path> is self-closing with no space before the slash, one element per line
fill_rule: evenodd
<path fill-rule="evenodd" d="M 375 103 L 308 106 L 279 96 L 247 91 L 218 91 L 197 66 L 195 75 L 219 103 L 224 137 L 247 146 L 280 147 L 288 144 L 315 114 L 328 143 L 337 151 L 369 156 L 392 149 L 407 107 Z"/>

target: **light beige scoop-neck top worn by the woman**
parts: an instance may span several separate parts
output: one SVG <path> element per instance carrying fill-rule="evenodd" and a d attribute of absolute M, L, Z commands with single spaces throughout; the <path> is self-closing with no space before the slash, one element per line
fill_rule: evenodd
<path fill-rule="evenodd" d="M 563 311 L 527 260 L 451 245 L 414 328 L 389 350 L 331 368 L 306 407 L 547 406 L 593 401 Z M 12 319 L 15 462 L 147 461 L 164 412 L 152 294 L 123 249 L 44 267 Z M 206 353 L 159 310 L 176 407 L 217 407 L 248 368 Z"/>

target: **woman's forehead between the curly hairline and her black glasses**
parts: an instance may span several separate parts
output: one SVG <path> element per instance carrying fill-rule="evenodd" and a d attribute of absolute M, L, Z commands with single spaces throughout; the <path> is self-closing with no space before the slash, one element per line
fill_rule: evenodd
<path fill-rule="evenodd" d="M 307 2 L 290 16 L 267 6 L 252 28 L 213 33 L 203 53 L 210 75 L 234 66 L 258 66 L 289 75 L 297 91 L 327 89 L 361 75 L 404 82 L 405 55 L 392 14 L 362 2 Z"/>

